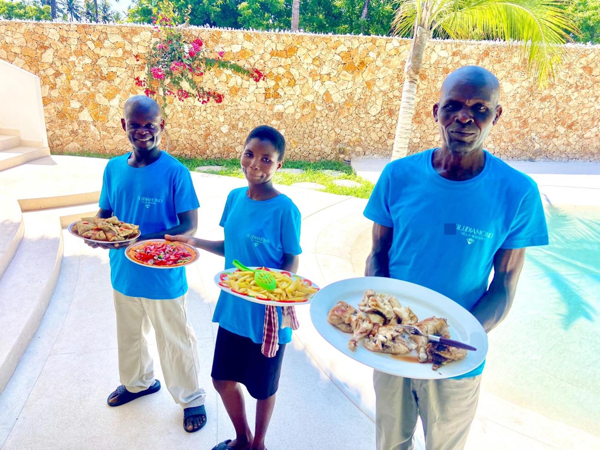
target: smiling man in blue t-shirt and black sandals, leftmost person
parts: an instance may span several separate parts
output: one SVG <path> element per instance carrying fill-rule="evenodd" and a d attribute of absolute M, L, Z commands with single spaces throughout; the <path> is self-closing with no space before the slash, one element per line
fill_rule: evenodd
<path fill-rule="evenodd" d="M 185 166 L 159 147 L 164 130 L 160 107 L 136 95 L 125 103 L 123 115 L 133 151 L 107 164 L 98 217 L 116 215 L 139 225 L 139 240 L 162 239 L 166 233 L 193 236 L 198 224 L 196 191 Z M 148 349 L 152 325 L 167 389 L 184 408 L 184 430 L 200 430 L 206 424 L 206 393 L 199 385 L 196 336 L 187 319 L 185 268 L 136 265 L 125 257 L 124 245 L 92 247 L 110 248 L 122 384 L 109 395 L 109 406 L 160 389 Z"/>

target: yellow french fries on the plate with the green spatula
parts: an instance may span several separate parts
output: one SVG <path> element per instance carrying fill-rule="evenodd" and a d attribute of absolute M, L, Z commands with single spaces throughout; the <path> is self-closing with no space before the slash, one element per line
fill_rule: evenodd
<path fill-rule="evenodd" d="M 254 281 L 254 272 L 238 271 L 229 274 L 224 284 L 227 284 L 236 292 L 247 294 L 253 297 L 262 297 L 273 301 L 280 302 L 303 302 L 308 299 L 308 296 L 317 292 L 315 287 L 308 286 L 307 283 L 295 276 L 293 279 L 286 274 L 280 272 L 269 272 L 275 277 L 277 287 L 274 290 L 268 291 L 257 286 Z"/>

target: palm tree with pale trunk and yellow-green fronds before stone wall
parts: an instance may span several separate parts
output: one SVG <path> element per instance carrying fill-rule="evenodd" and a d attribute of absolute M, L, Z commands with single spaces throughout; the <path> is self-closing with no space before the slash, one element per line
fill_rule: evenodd
<path fill-rule="evenodd" d="M 569 32 L 578 32 L 565 11 L 564 0 L 398 0 L 394 28 L 412 35 L 404 66 L 404 85 L 392 160 L 406 156 L 415 115 L 417 81 L 431 37 L 519 41 L 527 70 L 545 86 L 560 65 Z"/>

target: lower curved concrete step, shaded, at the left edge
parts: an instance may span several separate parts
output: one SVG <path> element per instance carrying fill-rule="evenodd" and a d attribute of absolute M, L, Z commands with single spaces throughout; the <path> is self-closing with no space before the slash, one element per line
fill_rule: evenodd
<path fill-rule="evenodd" d="M 0 279 L 0 391 L 40 325 L 61 266 L 56 211 L 23 214 L 25 235 Z"/>

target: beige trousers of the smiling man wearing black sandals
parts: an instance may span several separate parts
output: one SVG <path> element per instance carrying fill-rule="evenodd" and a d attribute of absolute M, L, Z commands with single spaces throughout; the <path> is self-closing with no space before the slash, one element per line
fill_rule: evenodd
<path fill-rule="evenodd" d="M 152 325 L 164 382 L 173 400 L 184 408 L 203 405 L 206 392 L 198 383 L 198 346 L 187 319 L 185 295 L 152 300 L 129 297 L 115 290 L 113 297 L 121 384 L 130 392 L 140 392 L 154 384 L 154 361 L 148 351 Z"/>

